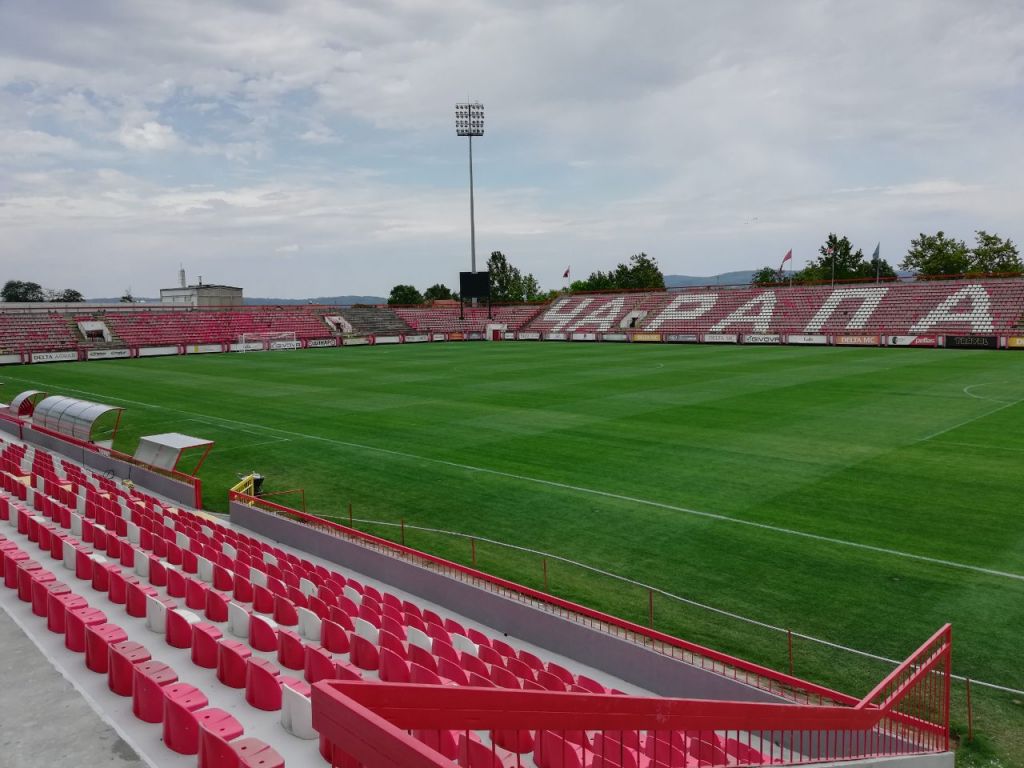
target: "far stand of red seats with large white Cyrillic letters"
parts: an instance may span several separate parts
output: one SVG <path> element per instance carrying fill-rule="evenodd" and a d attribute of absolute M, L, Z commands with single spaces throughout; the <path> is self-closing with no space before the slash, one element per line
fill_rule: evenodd
<path fill-rule="evenodd" d="M 671 293 L 568 296 L 554 302 L 524 330 L 991 334 L 1013 331 L 1020 321 L 1022 306 L 1022 280 L 835 288 L 706 287 Z"/>

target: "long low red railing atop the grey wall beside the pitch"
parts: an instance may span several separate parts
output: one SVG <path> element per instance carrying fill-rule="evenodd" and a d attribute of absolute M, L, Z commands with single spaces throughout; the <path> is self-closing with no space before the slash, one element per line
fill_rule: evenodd
<path fill-rule="evenodd" d="M 798 703 L 814 703 L 823 706 L 853 707 L 858 703 L 855 696 L 817 685 L 806 680 L 786 675 L 782 672 L 762 667 L 728 653 L 707 648 L 673 637 L 663 632 L 643 627 L 633 622 L 604 613 L 585 605 L 564 600 L 540 590 L 525 587 L 515 582 L 486 573 L 476 568 L 461 565 L 441 557 L 421 552 L 420 550 L 395 544 L 386 539 L 356 530 L 332 520 L 326 520 L 315 515 L 300 512 L 297 509 L 285 507 L 264 499 L 247 496 L 238 492 L 229 492 L 228 500 L 242 504 L 256 506 L 263 511 L 304 523 L 321 531 L 337 536 L 350 542 L 370 547 L 392 557 L 414 562 L 417 565 L 441 572 L 453 579 L 472 584 L 511 599 L 530 604 L 536 608 L 555 613 L 563 618 L 574 621 L 592 629 L 631 640 L 646 648 L 673 658 L 694 665 L 703 670 L 738 680 L 746 685 L 768 691 L 782 698 Z"/>

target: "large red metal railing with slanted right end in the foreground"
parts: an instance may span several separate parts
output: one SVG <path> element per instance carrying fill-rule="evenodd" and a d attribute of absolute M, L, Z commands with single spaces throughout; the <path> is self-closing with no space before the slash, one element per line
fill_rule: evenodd
<path fill-rule="evenodd" d="M 946 625 L 853 707 L 322 681 L 313 727 L 344 768 L 523 765 L 530 753 L 540 768 L 694 768 L 945 752 L 951 652 Z"/>

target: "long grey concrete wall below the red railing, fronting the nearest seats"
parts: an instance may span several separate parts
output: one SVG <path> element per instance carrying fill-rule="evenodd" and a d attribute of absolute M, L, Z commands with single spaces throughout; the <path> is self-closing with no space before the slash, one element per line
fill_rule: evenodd
<path fill-rule="evenodd" d="M 230 515 L 233 524 L 393 585 L 499 632 L 575 658 L 659 695 L 745 701 L 782 700 L 628 640 L 248 505 L 232 502 Z"/>

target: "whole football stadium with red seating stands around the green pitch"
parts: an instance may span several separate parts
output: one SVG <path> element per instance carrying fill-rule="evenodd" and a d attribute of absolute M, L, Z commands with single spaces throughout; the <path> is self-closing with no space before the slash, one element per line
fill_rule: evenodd
<path fill-rule="evenodd" d="M 1011 524 L 1022 314 L 1014 279 L 10 308 L 2 604 L 156 765 L 942 764 L 966 678 L 994 724 L 1019 684 L 1012 557 L 924 523 Z"/>

